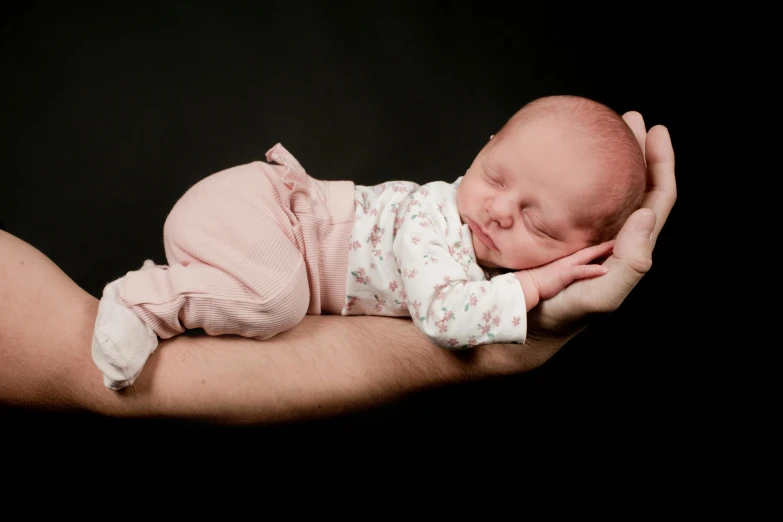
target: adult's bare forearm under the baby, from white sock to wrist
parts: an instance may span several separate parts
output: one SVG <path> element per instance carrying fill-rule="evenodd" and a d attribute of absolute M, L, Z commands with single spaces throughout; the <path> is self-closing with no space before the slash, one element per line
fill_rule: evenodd
<path fill-rule="evenodd" d="M 236 424 L 334 416 L 427 387 L 530 370 L 559 346 L 496 345 L 452 352 L 407 319 L 306 317 L 267 341 L 180 336 L 162 343 L 106 413 Z"/>

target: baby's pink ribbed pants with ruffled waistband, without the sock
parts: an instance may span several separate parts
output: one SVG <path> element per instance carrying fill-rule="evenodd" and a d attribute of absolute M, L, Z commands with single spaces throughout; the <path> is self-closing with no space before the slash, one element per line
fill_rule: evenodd
<path fill-rule="evenodd" d="M 123 302 L 160 338 L 203 328 L 263 340 L 305 314 L 341 313 L 354 185 L 310 177 L 280 144 L 266 158 L 193 185 L 163 227 L 168 265 L 123 277 Z"/>

